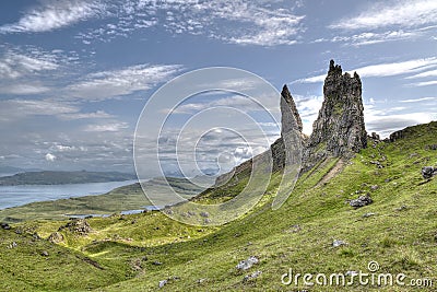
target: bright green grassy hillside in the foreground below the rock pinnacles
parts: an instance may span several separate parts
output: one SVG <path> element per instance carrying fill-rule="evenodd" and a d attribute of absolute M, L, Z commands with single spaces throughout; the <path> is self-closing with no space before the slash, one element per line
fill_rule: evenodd
<path fill-rule="evenodd" d="M 94 229 L 92 234 L 76 236 L 63 232 L 66 243 L 51 248 L 60 248 L 69 255 L 80 250 L 102 265 L 119 269 L 117 279 L 130 278 L 132 271 L 137 273 L 134 278 L 113 283 L 96 280 L 102 285 L 98 291 L 153 291 L 160 280 L 173 277 L 180 279 L 169 280 L 162 291 L 293 291 L 297 288 L 284 287 L 280 280 L 288 268 L 303 273 L 366 271 L 370 260 L 379 262 L 381 272 L 434 278 L 436 285 L 437 179 L 423 184 L 421 176 L 422 166 L 437 164 L 437 151 L 425 149 L 436 143 L 435 137 L 437 122 L 412 128 L 410 137 L 394 143 L 383 142 L 376 149 L 370 144 L 340 175 L 319 184 L 336 163 L 330 160 L 310 175 L 304 175 L 287 202 L 276 211 L 270 209 L 270 195 L 279 180 L 279 174 L 274 174 L 264 205 L 221 229 L 187 226 L 158 212 L 121 220 L 93 219 L 90 220 Z M 377 168 L 370 163 L 376 160 L 385 167 Z M 379 188 L 370 190 L 373 185 Z M 345 203 L 346 199 L 359 196 L 357 192 L 367 191 L 371 194 L 373 205 L 354 210 Z M 215 198 L 213 194 L 205 197 Z M 375 215 L 363 217 L 369 212 Z M 48 236 L 60 224 L 26 223 L 26 226 L 35 225 L 38 234 Z M 345 241 L 347 245 L 335 248 L 334 240 Z M 23 253 L 34 249 L 37 248 L 29 246 Z M 259 257 L 259 264 L 246 272 L 235 269 L 238 261 L 252 255 Z M 0 266 L 4 267 L 11 256 L 2 253 Z M 22 257 L 22 254 L 15 256 Z M 163 265 L 154 265 L 154 261 Z M 256 270 L 262 271 L 258 279 L 243 281 L 245 275 Z M 101 279 L 98 272 L 93 270 L 88 277 Z M 40 269 L 38 279 L 46 275 L 51 277 Z M 78 277 L 78 273 L 72 271 L 70 277 Z M 58 273 L 56 278 L 63 279 Z M 199 282 L 200 279 L 205 280 Z M 13 277 L 7 278 L 3 285 L 11 281 Z M 27 287 L 35 281 L 35 275 L 26 276 Z M 52 281 L 42 280 L 40 287 L 55 289 Z M 71 282 L 69 288 L 82 290 L 83 285 Z M 368 291 L 368 288 L 355 285 L 334 290 Z M 412 289 L 395 287 L 395 290 L 380 288 L 378 291 Z"/>

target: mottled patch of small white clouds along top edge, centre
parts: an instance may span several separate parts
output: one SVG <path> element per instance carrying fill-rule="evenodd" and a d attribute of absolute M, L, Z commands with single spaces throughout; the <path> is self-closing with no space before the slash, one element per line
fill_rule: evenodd
<path fill-rule="evenodd" d="M 276 8 L 276 7 L 281 8 Z M 302 1 L 222 0 L 175 1 L 140 0 L 114 2 L 107 11 L 117 14 L 116 22 L 76 35 L 84 44 L 96 39 L 109 42 L 128 36 L 135 30 L 164 27 L 172 34 L 205 35 L 239 45 L 292 45 L 305 28 L 305 15 L 296 15 Z M 131 15 L 135 15 L 132 17 Z"/>

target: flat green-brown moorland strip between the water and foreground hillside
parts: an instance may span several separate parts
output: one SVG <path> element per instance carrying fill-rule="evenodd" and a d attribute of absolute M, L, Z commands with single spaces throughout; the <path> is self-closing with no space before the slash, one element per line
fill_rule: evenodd
<path fill-rule="evenodd" d="M 168 184 L 182 197 L 190 198 L 201 191 L 199 187 L 184 178 L 168 177 Z M 166 182 L 154 178 L 145 183 L 146 189 L 165 191 Z M 111 214 L 125 210 L 141 209 L 152 205 L 144 196 L 140 184 L 116 188 L 105 195 L 85 196 L 27 203 L 0 210 L 0 221 L 20 222 L 24 220 L 64 220 L 64 214 Z"/>

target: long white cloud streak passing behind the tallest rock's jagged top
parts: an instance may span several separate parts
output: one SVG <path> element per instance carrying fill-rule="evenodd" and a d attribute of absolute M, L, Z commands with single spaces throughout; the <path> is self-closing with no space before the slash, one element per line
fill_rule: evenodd
<path fill-rule="evenodd" d="M 415 73 L 418 71 L 426 70 L 428 68 L 437 67 L 437 58 L 424 58 L 424 59 L 414 59 L 409 61 L 402 62 L 390 62 L 390 63 L 379 63 L 379 65 L 370 65 L 361 67 L 354 70 L 349 71 L 354 72 L 356 71 L 359 77 L 392 77 L 392 75 L 400 75 L 400 74 L 408 74 L 408 73 Z M 322 82 L 326 75 L 317 75 L 310 77 L 305 79 L 299 79 L 294 82 L 297 83 L 316 83 Z"/>

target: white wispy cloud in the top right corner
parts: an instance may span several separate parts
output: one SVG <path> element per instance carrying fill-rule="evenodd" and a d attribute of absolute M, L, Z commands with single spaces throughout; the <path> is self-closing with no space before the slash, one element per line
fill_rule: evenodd
<path fill-rule="evenodd" d="M 387 26 L 413 27 L 437 23 L 435 0 L 385 1 L 351 19 L 343 19 L 330 28 L 373 30 Z"/>

